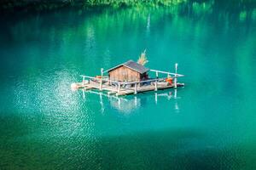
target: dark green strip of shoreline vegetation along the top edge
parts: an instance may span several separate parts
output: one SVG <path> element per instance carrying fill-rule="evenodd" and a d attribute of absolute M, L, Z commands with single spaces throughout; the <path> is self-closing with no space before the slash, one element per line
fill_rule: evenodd
<path fill-rule="evenodd" d="M 113 7 L 123 8 L 131 6 L 177 6 L 184 3 L 195 3 L 221 8 L 247 8 L 253 7 L 256 0 L 2 0 L 0 1 L 1 13 L 16 13 L 27 11 L 49 11 L 56 8 L 92 8 Z"/>

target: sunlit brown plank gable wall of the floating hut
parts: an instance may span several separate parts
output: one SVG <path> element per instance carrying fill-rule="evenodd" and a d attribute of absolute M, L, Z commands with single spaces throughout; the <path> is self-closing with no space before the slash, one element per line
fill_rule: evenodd
<path fill-rule="evenodd" d="M 122 65 L 113 71 L 109 71 L 109 78 L 121 82 L 140 81 L 140 73 Z"/>

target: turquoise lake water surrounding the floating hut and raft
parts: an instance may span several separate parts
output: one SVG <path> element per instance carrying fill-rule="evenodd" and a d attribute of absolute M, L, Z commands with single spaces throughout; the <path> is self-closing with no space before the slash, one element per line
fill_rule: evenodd
<path fill-rule="evenodd" d="M 1 23 L 0 169 L 256 169 L 254 4 L 63 9 Z M 145 48 L 151 69 L 178 63 L 185 87 L 125 98 L 70 89 Z"/>

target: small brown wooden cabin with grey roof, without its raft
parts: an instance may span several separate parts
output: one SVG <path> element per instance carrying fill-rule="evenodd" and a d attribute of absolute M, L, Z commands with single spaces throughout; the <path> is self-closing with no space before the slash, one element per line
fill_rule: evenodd
<path fill-rule="evenodd" d="M 132 60 L 116 65 L 108 70 L 109 80 L 119 82 L 138 82 L 148 79 L 149 69 Z"/>

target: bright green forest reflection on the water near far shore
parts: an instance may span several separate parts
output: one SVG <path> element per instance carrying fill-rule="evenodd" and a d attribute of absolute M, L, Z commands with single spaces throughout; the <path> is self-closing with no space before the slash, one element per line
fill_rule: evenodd
<path fill-rule="evenodd" d="M 220 10 L 223 10 L 223 12 L 220 13 Z M 256 1 L 193 0 L 168 8 L 160 6 L 135 6 L 134 8 L 120 8 L 115 10 L 112 8 L 107 8 L 107 10 L 99 8 L 96 10 L 70 8 L 64 11 L 55 11 L 54 14 L 49 14 L 48 17 L 41 17 L 41 15 L 45 14 L 40 13 L 36 14 L 36 16 L 35 14 L 28 14 L 29 24 L 22 20 L 21 17 L 24 15 L 17 17 L 18 19 L 9 20 L 8 18 L 7 25 L 1 29 L 1 37 L 24 42 L 32 39 L 32 37 L 38 37 L 43 34 L 47 40 L 61 36 L 63 42 L 68 42 L 73 41 L 69 39 L 73 35 L 76 35 L 75 37 L 77 38 L 81 36 L 90 38 L 93 36 L 90 35 L 93 31 L 99 32 L 98 36 L 103 36 L 101 32 L 111 32 L 111 26 L 115 26 L 116 23 L 119 23 L 119 30 L 116 31 L 115 29 L 115 33 L 124 31 L 125 26 L 130 23 L 134 25 L 133 31 L 138 31 L 136 28 L 142 26 L 144 23 L 148 23 L 148 19 L 150 19 L 151 23 L 158 22 L 158 14 L 166 14 L 172 17 L 173 20 L 177 17 L 179 19 L 186 17 L 191 20 L 201 20 L 207 17 L 208 19 L 218 21 L 224 20 L 230 26 L 241 21 L 247 21 L 249 24 L 252 24 L 256 21 Z M 148 16 L 150 17 L 148 18 Z M 100 20 L 97 20 L 99 17 L 101 17 Z M 74 18 L 78 20 L 73 20 Z M 6 20 L 6 18 L 1 18 L 1 20 Z M 54 24 L 52 24 L 51 20 L 55 20 Z M 87 24 L 88 20 L 91 21 L 92 25 Z M 129 23 L 127 23 L 128 20 Z M 62 27 L 63 22 L 66 24 L 65 27 Z M 6 27 L 11 27 L 11 29 L 5 29 Z M 45 29 L 50 29 L 50 31 L 46 31 Z M 84 30 L 90 30 L 90 32 Z M 4 31 L 8 31 L 8 34 L 3 34 Z"/>

